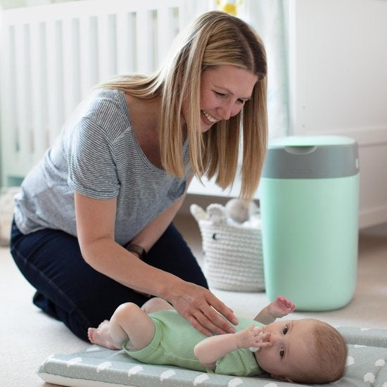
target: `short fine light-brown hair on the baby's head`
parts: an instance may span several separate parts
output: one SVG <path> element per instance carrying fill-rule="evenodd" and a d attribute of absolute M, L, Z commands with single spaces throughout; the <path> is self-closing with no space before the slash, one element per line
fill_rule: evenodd
<path fill-rule="evenodd" d="M 293 376 L 298 383 L 331 383 L 341 379 L 345 373 L 348 348 L 343 336 L 333 326 L 319 320 L 312 331 L 314 338 L 313 357 L 316 366 Z"/>

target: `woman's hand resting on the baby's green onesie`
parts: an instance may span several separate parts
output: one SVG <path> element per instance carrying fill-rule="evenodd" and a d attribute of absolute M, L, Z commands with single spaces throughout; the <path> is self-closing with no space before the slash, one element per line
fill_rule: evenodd
<path fill-rule="evenodd" d="M 167 300 L 202 334 L 211 336 L 212 332 L 216 334 L 235 332 L 234 326 L 229 323 L 238 324 L 233 311 L 208 289 L 185 281 L 171 288 L 172 294 Z"/>

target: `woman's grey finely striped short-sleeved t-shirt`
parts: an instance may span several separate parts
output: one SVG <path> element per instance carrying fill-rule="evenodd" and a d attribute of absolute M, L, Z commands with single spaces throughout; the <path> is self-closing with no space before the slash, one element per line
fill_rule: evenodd
<path fill-rule="evenodd" d="M 186 163 L 187 141 L 183 157 Z M 101 89 L 82 103 L 24 179 L 15 222 L 23 234 L 50 228 L 76 236 L 74 191 L 117 196 L 115 241 L 124 245 L 182 196 L 190 170 L 187 165 L 180 179 L 153 165 L 134 137 L 123 91 Z"/>

